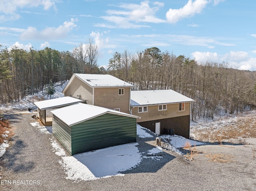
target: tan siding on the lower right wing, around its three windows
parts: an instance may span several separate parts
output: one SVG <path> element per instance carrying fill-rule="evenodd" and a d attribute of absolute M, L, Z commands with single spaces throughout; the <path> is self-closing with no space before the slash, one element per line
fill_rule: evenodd
<path fill-rule="evenodd" d="M 137 122 L 160 120 L 190 115 L 190 102 L 185 103 L 185 110 L 179 111 L 179 104 L 167 104 L 166 110 L 158 110 L 158 105 L 148 106 L 148 112 L 138 113 L 138 107 L 132 109 L 132 114 L 140 116 Z"/>

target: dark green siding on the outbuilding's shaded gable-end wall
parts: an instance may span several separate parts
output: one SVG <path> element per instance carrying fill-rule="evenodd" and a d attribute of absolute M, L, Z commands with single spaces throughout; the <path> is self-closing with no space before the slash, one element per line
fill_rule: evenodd
<path fill-rule="evenodd" d="M 136 118 L 104 114 L 71 129 L 72 155 L 136 142 Z"/>

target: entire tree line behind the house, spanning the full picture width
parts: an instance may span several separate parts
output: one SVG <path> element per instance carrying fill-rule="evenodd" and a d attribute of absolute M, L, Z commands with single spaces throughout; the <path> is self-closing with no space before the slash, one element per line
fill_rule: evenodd
<path fill-rule="evenodd" d="M 73 51 L 0 46 L 0 102 L 19 101 L 43 91 L 50 81 L 73 73 L 110 74 L 134 85 L 134 90 L 172 89 L 188 96 L 192 120 L 251 110 L 256 105 L 256 72 L 241 71 L 227 62 L 198 63 L 156 47 L 136 53 L 115 52 L 108 69 L 98 67 L 98 47 L 89 39 Z"/>

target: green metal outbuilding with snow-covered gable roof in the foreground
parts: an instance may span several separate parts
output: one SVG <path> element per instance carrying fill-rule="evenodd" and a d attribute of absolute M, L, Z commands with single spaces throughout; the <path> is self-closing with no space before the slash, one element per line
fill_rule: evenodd
<path fill-rule="evenodd" d="M 138 116 L 82 103 L 51 112 L 52 134 L 70 155 L 136 142 Z"/>

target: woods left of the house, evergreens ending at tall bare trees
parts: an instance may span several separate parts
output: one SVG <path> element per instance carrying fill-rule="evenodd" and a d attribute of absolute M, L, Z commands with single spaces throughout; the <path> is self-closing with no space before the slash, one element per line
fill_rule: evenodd
<path fill-rule="evenodd" d="M 53 83 L 70 79 L 73 73 L 104 73 L 97 65 L 98 47 L 89 39 L 74 50 L 46 47 L 29 51 L 0 45 L 0 103 L 18 102 L 43 91 Z"/>

